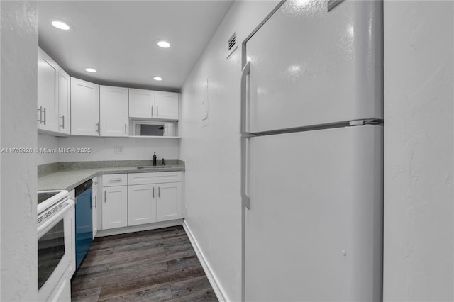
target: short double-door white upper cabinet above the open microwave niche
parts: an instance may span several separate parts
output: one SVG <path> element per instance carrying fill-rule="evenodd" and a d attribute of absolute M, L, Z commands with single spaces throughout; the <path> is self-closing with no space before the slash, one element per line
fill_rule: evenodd
<path fill-rule="evenodd" d="M 129 117 L 178 120 L 179 94 L 129 89 Z"/>

